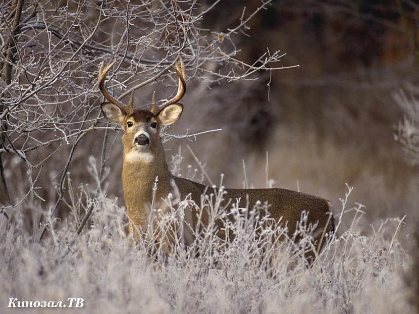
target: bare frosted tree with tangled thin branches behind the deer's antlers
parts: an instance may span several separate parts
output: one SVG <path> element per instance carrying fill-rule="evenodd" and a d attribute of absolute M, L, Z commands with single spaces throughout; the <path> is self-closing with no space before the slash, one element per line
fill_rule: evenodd
<path fill-rule="evenodd" d="M 2 213 L 30 197 L 47 200 L 45 213 L 56 215 L 66 198 L 65 182 L 74 156 L 88 153 L 79 144 L 93 131 L 95 138 L 102 140 L 99 169 L 103 182 L 108 135 L 115 127 L 101 119 L 98 106 L 102 98 L 96 82 L 102 61 L 116 60 L 108 86 L 122 101 L 132 91 L 151 86 L 136 95 L 136 103 L 143 106 L 150 103 L 154 89 L 158 98 L 171 96 L 162 95 L 159 88 L 176 85 L 173 65 L 178 54 L 185 61 L 188 80 L 207 85 L 253 79 L 257 71 L 282 69 L 277 65 L 282 57 L 279 51 L 267 49 L 252 64 L 246 64 L 238 59 L 239 48 L 234 42 L 270 2 L 260 1 L 252 12 L 243 10 L 235 27 L 214 32 L 205 29 L 202 21 L 222 5 L 220 0 L 211 5 L 196 0 L 3 0 Z M 18 172 L 22 174 L 19 183 L 15 179 Z"/>

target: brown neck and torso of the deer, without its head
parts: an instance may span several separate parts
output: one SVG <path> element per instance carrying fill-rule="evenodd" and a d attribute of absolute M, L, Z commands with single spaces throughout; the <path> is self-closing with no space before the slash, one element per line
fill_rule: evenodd
<path fill-rule="evenodd" d="M 152 165 L 144 165 L 141 163 L 127 163 L 124 161 L 122 182 L 124 188 L 125 203 L 130 219 L 130 232 L 135 235 L 135 238 L 140 237 L 139 230 L 146 230 L 149 222 L 150 206 L 152 202 L 152 186 L 154 180 L 148 177 L 151 173 L 152 178 L 158 178 L 158 189 L 154 199 L 156 203 L 155 208 L 161 208 L 164 215 L 165 210 L 168 210 L 167 205 L 163 201 L 168 198 L 169 193 L 173 195 L 172 205 L 176 206 L 179 200 L 190 199 L 200 206 L 201 196 L 204 194 L 214 193 L 214 188 L 207 187 L 197 182 L 188 179 L 173 176 L 167 165 L 163 168 L 165 171 L 156 171 L 157 169 Z M 127 170 L 126 170 L 127 169 Z M 271 188 L 271 189 L 224 189 L 224 200 L 220 206 L 224 206 L 226 202 L 239 200 L 240 208 L 251 208 L 257 201 L 261 203 L 268 203 L 269 214 L 278 223 L 283 226 L 287 224 L 288 235 L 292 237 L 295 232 L 296 223 L 301 219 L 303 211 L 308 212 L 308 224 L 317 224 L 318 231 L 315 233 L 315 241 L 319 243 L 323 235 L 323 231 L 331 232 L 332 222 L 330 222 L 329 215 L 331 208 L 329 202 L 320 197 L 312 196 L 305 193 L 300 193 L 287 189 Z M 217 190 L 215 191 L 217 192 Z M 198 213 L 189 208 L 189 212 L 185 213 L 185 222 L 189 227 L 184 228 L 185 231 L 190 228 L 196 230 Z M 194 219 L 195 218 L 195 219 Z M 207 217 L 202 217 L 202 222 L 205 224 Z M 329 224 L 329 226 L 328 226 Z M 219 222 L 219 228 L 222 227 L 222 222 Z M 223 232 L 219 236 L 224 238 Z M 189 245 L 194 240 L 192 234 L 183 235 L 185 244 Z M 323 243 L 324 244 L 324 243 Z"/>

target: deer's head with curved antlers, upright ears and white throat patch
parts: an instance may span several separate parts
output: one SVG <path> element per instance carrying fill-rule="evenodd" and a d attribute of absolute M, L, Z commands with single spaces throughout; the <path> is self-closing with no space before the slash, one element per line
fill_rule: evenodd
<path fill-rule="evenodd" d="M 112 62 L 103 69 L 103 62 L 99 69 L 99 89 L 110 102 L 103 103 L 100 108 L 103 116 L 110 122 L 120 124 L 124 130 L 122 142 L 124 145 L 124 161 L 150 162 L 155 156 L 163 154 L 160 130 L 164 125 L 175 123 L 181 116 L 183 105 L 178 103 L 186 91 L 185 66 L 179 55 L 181 67 L 176 61 L 175 70 L 178 75 L 178 91 L 176 95 L 158 107 L 155 103 L 155 92 L 152 98 L 151 110 L 133 109 L 134 92 L 131 93 L 128 106 L 111 95 L 105 85 L 108 71 L 115 64 Z M 164 155 L 163 155 L 164 156 Z"/>

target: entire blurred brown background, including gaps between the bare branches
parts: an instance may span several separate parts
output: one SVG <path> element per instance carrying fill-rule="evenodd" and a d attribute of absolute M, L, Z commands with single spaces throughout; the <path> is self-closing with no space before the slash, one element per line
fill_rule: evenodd
<path fill-rule="evenodd" d="M 92 108 L 77 117 L 85 116 L 88 117 L 87 122 L 98 121 L 97 126 L 104 126 L 106 122 L 98 110 L 101 102 L 96 84 L 98 64 L 103 59 L 112 60 L 116 56 L 115 51 L 124 50 L 119 36 L 126 29 L 126 16 L 135 14 L 136 11 L 128 10 L 129 6 L 124 1 L 90 1 L 87 5 L 83 4 L 84 7 L 81 7 L 81 2 L 46 2 L 37 6 L 35 3 L 27 1 L 24 5 L 22 19 L 30 17 L 32 10 L 36 12 L 32 20 L 25 22 L 28 25 L 31 21 L 39 24 L 42 17 L 48 25 L 54 26 L 59 21 L 58 17 L 66 16 L 67 21 L 73 19 L 73 23 L 80 23 L 80 26 L 60 22 L 57 31 L 59 29 L 65 36 L 71 35 L 71 40 L 75 38 L 73 41 L 86 40 L 89 43 L 89 40 L 95 40 L 110 48 L 86 48 L 84 52 L 81 49 L 80 54 L 84 54 L 83 60 L 87 62 L 80 63 L 79 70 L 82 68 L 86 71 L 83 73 L 88 75 L 69 75 L 69 79 L 59 82 L 60 86 L 67 86 L 66 84 L 71 85 L 69 82 L 80 81 L 77 89 L 83 90 L 80 95 L 76 95 L 76 89 L 72 89 L 71 92 L 67 90 L 66 95 L 73 96 L 65 98 L 59 91 L 50 88 L 47 93 L 33 98 L 34 100 L 28 98 L 26 104 L 33 104 L 33 108 L 38 108 L 37 101 L 42 98 L 43 104 L 54 103 L 64 108 L 71 103 L 72 108 Z M 170 12 L 170 2 L 149 2 L 149 7 L 160 10 L 165 4 Z M 4 1 L 3 14 L 12 5 L 12 2 Z M 141 6 L 141 2 L 131 1 L 130 5 Z M 183 10 L 187 17 L 190 5 L 190 2 L 179 3 L 179 12 Z M 419 5 L 407 0 L 277 0 L 267 5 L 259 0 L 249 0 L 245 4 L 235 0 L 202 0 L 193 10 L 190 12 L 195 16 L 199 12 L 205 13 L 195 25 L 200 34 L 203 34 L 202 38 L 214 40 L 220 49 L 224 47 L 228 50 L 234 46 L 234 60 L 251 65 L 268 48 L 272 53 L 280 50 L 280 54 L 286 54 L 275 67 L 290 68 L 270 71 L 269 67 L 259 61 L 254 66 L 265 66 L 266 70 L 245 79 L 211 79 L 209 74 L 206 76 L 209 72 L 205 71 L 230 73 L 226 69 L 234 64 L 234 60 L 210 60 L 199 68 L 205 70 L 204 72 L 194 72 L 193 54 L 185 50 L 184 58 L 190 61 L 187 63 L 188 88 L 182 99 L 185 110 L 168 133 L 182 135 L 186 132 L 193 134 L 205 130 L 222 130 L 196 136 L 196 140 L 189 137 L 167 141 L 165 147 L 168 163 L 171 163 L 172 155 L 175 160 L 179 159 L 176 155 L 181 149 L 183 160 L 180 172 L 186 176 L 188 165 L 191 165 L 192 170 L 197 168 L 200 173 L 187 149 L 189 145 L 213 182 L 219 182 L 220 174 L 224 174 L 226 187 L 243 187 L 244 164 L 249 185 L 266 187 L 268 154 L 268 174 L 269 179 L 275 181 L 271 181 L 274 187 L 299 189 L 301 192 L 323 196 L 332 201 L 335 211 L 339 213 L 339 198 L 345 196 L 347 183 L 354 187 L 351 203 L 358 202 L 365 206 L 363 211 L 366 213 L 366 222 L 362 225 L 364 231 L 370 230 L 369 223 L 404 215 L 407 215 L 405 222 L 411 227 L 415 226 L 419 215 L 419 167 L 415 163 L 414 152 L 412 154 L 408 146 L 409 137 L 414 135 L 414 119 L 417 122 L 419 113 L 409 105 L 414 103 L 418 93 L 416 86 L 419 86 Z M 232 28 L 240 25 L 243 17 L 247 18 L 253 13 L 254 16 L 245 25 L 229 33 Z M 99 16 L 102 20 L 95 28 Z M 141 17 L 136 19 L 141 20 Z M 133 41 L 142 38 L 141 36 L 151 36 L 150 28 L 147 28 L 149 21 L 135 23 L 136 21 L 131 21 L 133 26 L 129 32 Z M 36 38 L 38 46 L 34 43 L 32 49 L 38 48 L 42 43 L 60 41 L 52 30 L 48 33 L 45 29 L 32 27 L 31 31 L 32 33 L 17 38 L 22 45 L 28 41 L 29 35 Z M 154 31 L 158 32 L 155 27 Z M 152 38 L 159 40 L 157 35 Z M 65 47 L 68 48 L 68 45 Z M 27 45 L 25 48 L 29 49 Z M 68 48 L 69 56 L 74 51 L 79 54 L 77 48 L 75 44 Z M 132 51 L 135 50 L 133 55 L 144 54 L 155 60 L 162 56 L 162 50 L 175 51 L 173 47 L 156 48 L 152 44 L 149 50 L 144 48 L 145 52 L 138 49 L 138 44 L 126 51 L 131 51 L 131 48 Z M 46 48 L 42 51 L 48 55 Z M 212 56 L 211 54 L 208 53 L 208 56 Z M 59 57 L 60 54 L 57 54 L 57 58 Z M 3 58 L 7 58 L 7 54 L 3 54 Z M 115 58 L 122 57 L 118 55 Z M 15 60 L 19 64 L 17 57 Z M 37 67 L 35 61 L 32 61 L 33 67 Z M 127 62 L 121 63 L 121 67 L 115 69 L 115 77 L 118 76 L 122 83 L 108 83 L 116 96 L 126 91 L 130 82 L 138 83 L 148 75 L 145 70 L 140 71 L 141 64 Z M 298 67 L 292 67 L 297 65 Z M 236 63 L 235 66 L 239 70 L 240 67 L 243 68 L 241 63 Z M 25 84 L 25 73 L 19 69 L 21 68 L 14 68 L 17 77 L 15 82 Z M 45 69 L 53 74 L 57 71 L 54 67 Z M 160 82 L 154 81 L 135 90 L 137 107 L 150 103 L 153 90 L 157 91 L 160 99 L 169 96 L 175 90 L 173 75 L 172 81 L 169 79 L 168 75 Z M 15 94 L 11 94 L 18 98 L 17 90 L 19 88 L 15 87 Z M 12 96 L 3 94 L 3 97 L 9 99 Z M 48 100 L 51 97 L 54 98 L 52 102 Z M 128 101 L 127 97 L 123 99 Z M 11 104 L 7 105 L 7 101 L 4 103 L 5 106 L 12 107 Z M 23 141 L 22 134 L 30 132 L 32 139 L 50 136 L 50 140 L 61 136 L 60 141 L 64 141 L 60 135 L 62 131 L 53 129 L 45 129 L 39 133 L 36 130 L 23 132 L 24 119 L 19 118 L 19 115 L 31 117 L 30 121 L 35 121 L 36 115 L 28 114 L 25 104 L 16 103 L 21 104 L 19 108 L 22 111 L 16 116 L 11 115 L 9 121 L 11 125 L 14 121 L 21 121 L 15 123 L 16 128 L 10 127 L 7 131 L 12 139 L 16 139 L 16 146 L 27 145 L 27 139 Z M 75 116 L 74 121 L 77 121 L 77 117 Z M 412 126 L 413 130 L 413 133 L 407 134 L 407 140 L 406 126 Z M 37 226 L 42 221 L 42 215 L 51 211 L 58 217 L 66 217 L 68 208 L 74 201 L 71 193 L 77 194 L 79 188 L 86 186 L 94 190 L 95 182 L 86 172 L 87 161 L 90 155 L 96 156 L 97 161 L 100 161 L 105 132 L 108 132 L 107 146 L 104 148 L 107 152 L 105 168 L 109 169 L 109 174 L 103 181 L 103 188 L 108 196 L 118 197 L 120 206 L 124 205 L 121 187 L 122 133 L 113 130 L 113 126 L 109 127 L 107 131 L 99 129 L 87 132 L 80 139 L 72 137 L 68 143 L 59 145 L 58 142 L 51 142 L 42 148 L 48 152 L 27 152 L 28 158 L 30 156 L 36 161 L 32 163 L 36 167 L 29 167 L 30 174 L 27 163 L 11 152 L 10 144 L 4 141 L 5 146 L 9 145 L 9 150 L 2 153 L 4 178 L 8 183 L 9 194 L 12 202 L 18 202 L 22 210 L 39 214 L 31 220 L 32 226 Z M 74 133 L 74 130 L 70 131 Z M 73 149 L 75 138 L 79 141 L 77 149 Z M 43 154 L 48 154 L 49 158 L 43 160 Z M 69 155 L 71 163 L 68 163 Z M 196 175 L 195 180 L 199 181 L 200 177 L 199 174 Z M 37 195 L 28 193 L 28 186 L 31 184 L 28 178 L 37 178 L 36 189 L 29 189 Z M 83 200 L 84 196 L 81 194 L 80 192 L 80 199 Z M 25 195 L 27 196 L 24 197 Z M 63 201 L 58 201 L 60 198 Z M 0 189 L 0 204 L 6 212 L 14 210 L 3 186 Z"/>

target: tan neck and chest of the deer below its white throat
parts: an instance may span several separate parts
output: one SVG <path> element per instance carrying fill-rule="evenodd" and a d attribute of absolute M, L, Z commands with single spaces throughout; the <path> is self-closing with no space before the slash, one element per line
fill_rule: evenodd
<path fill-rule="evenodd" d="M 171 192 L 172 174 L 169 172 L 165 154 L 153 154 L 151 161 L 130 161 L 124 151 L 122 166 L 122 185 L 128 216 L 134 225 L 146 227 L 153 201 L 153 186 L 157 178 L 153 207 L 159 208 L 162 198 Z"/>

